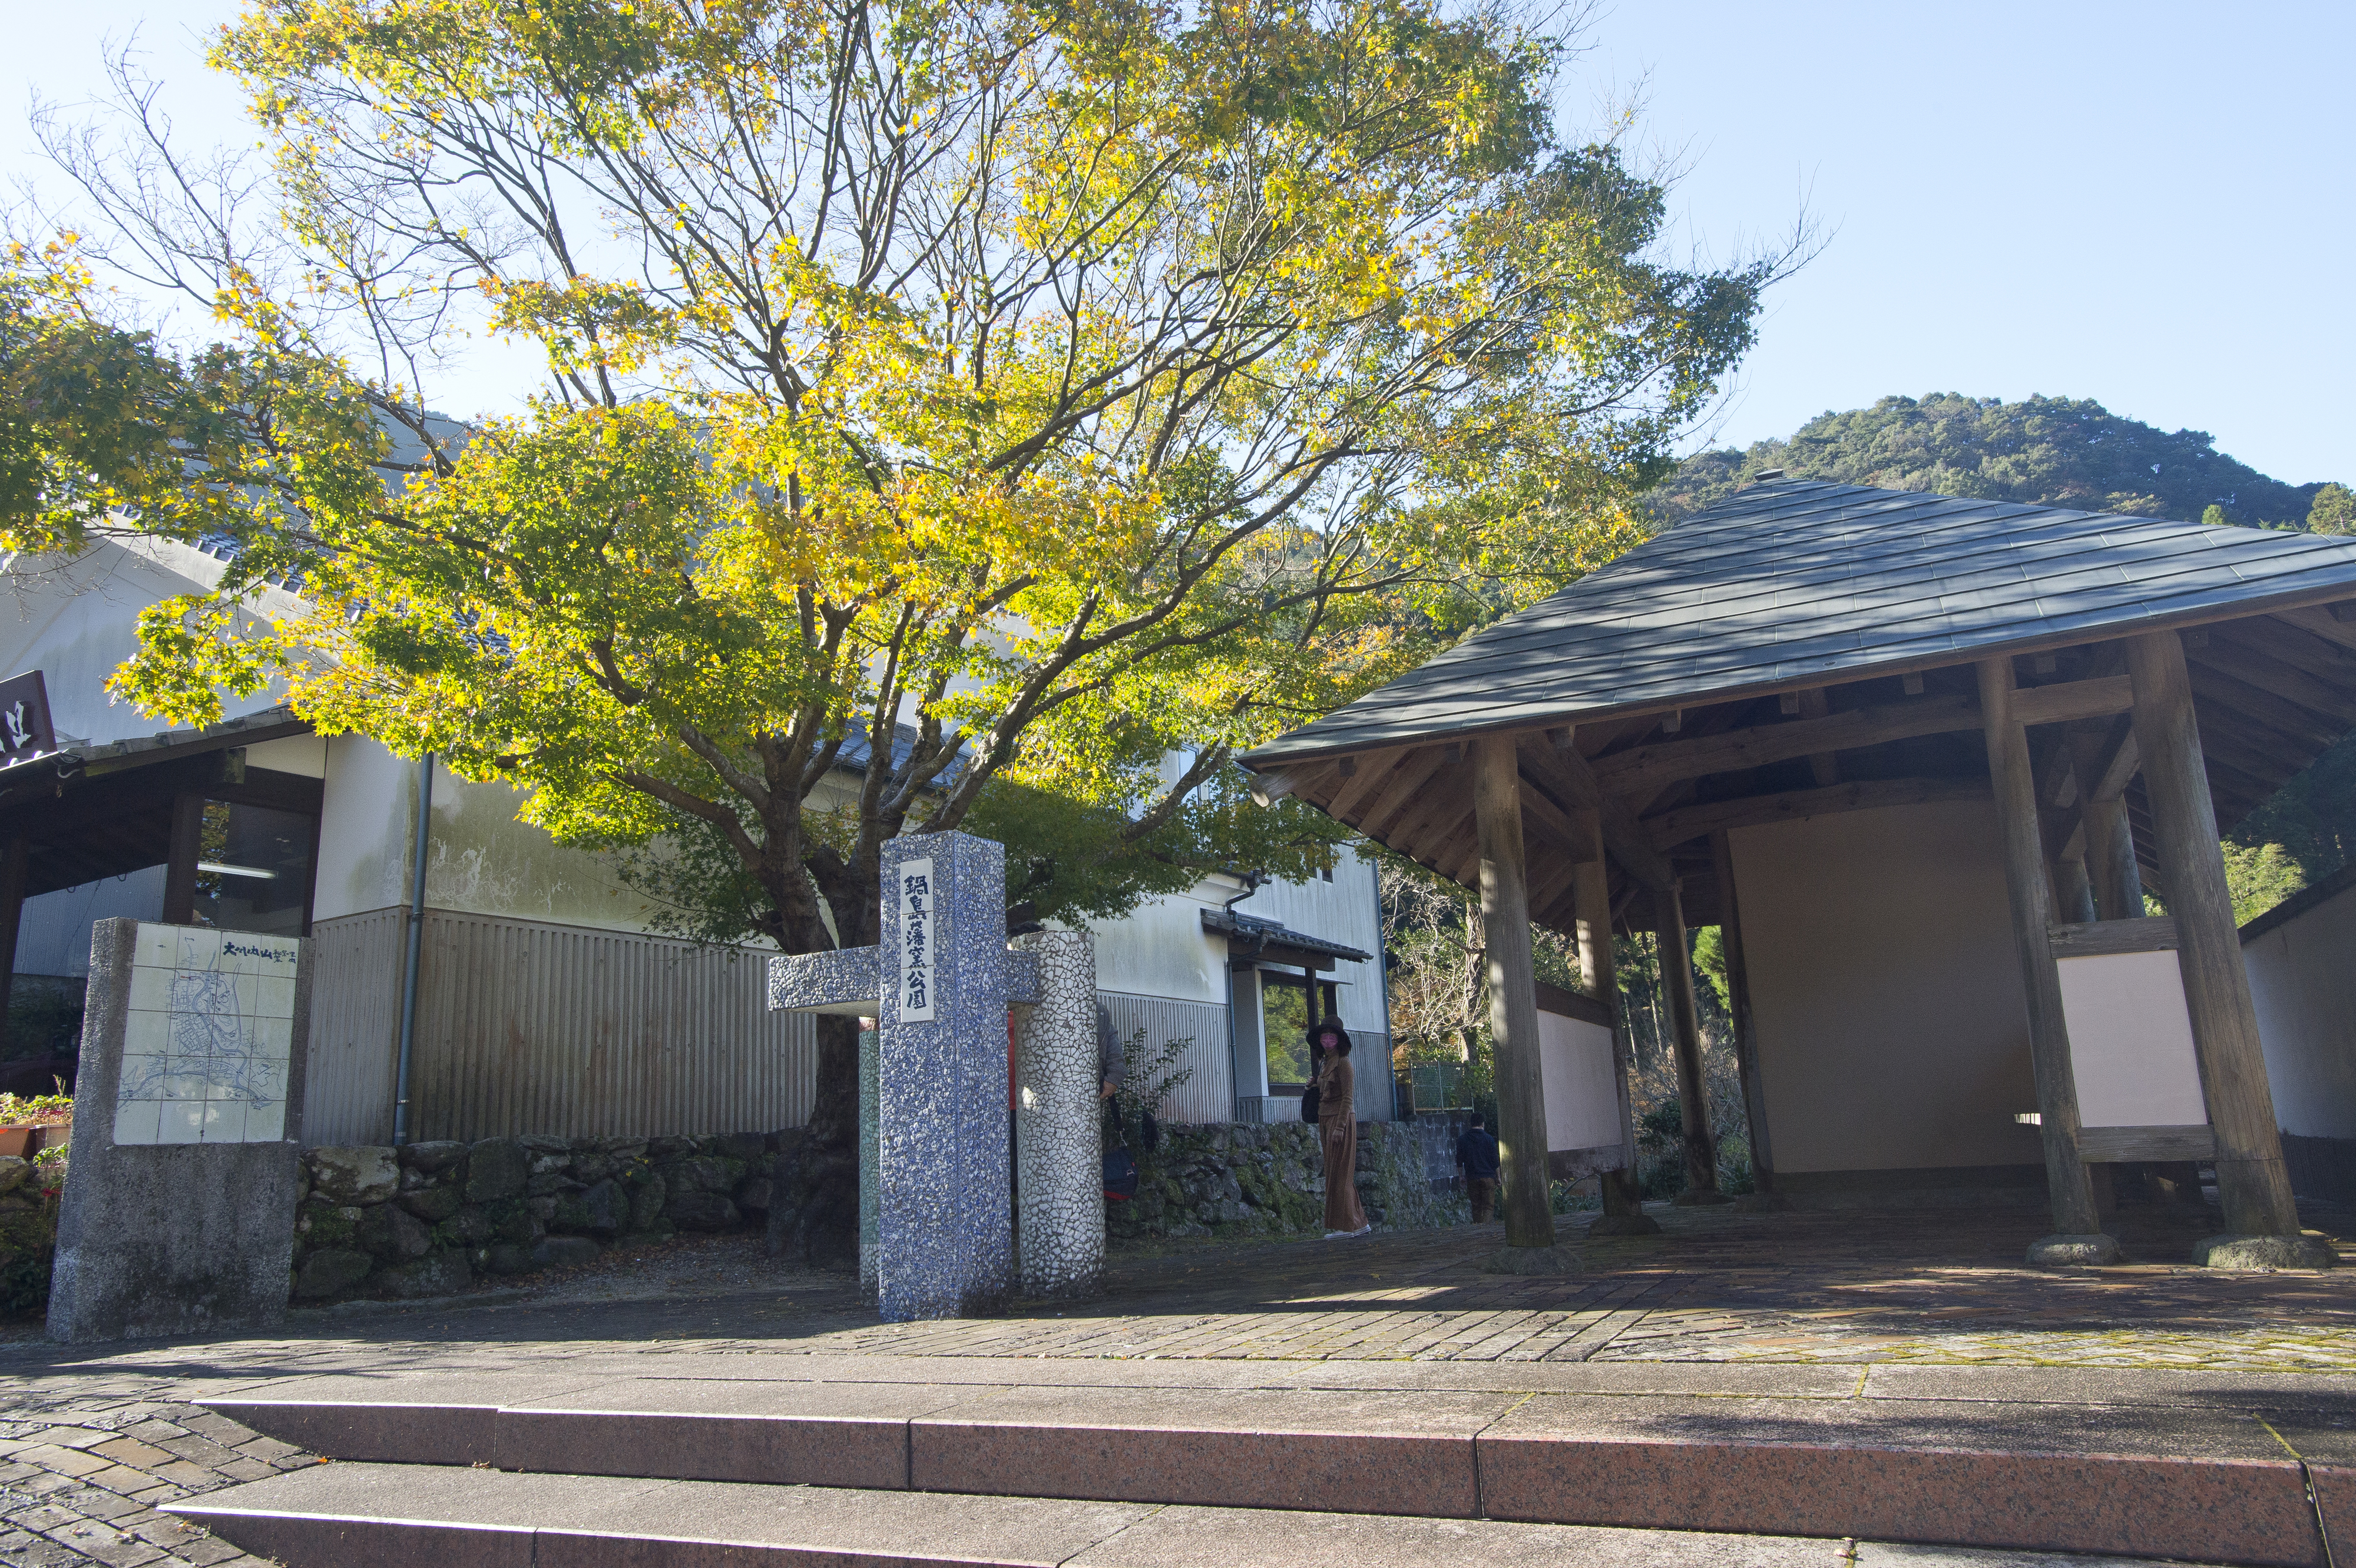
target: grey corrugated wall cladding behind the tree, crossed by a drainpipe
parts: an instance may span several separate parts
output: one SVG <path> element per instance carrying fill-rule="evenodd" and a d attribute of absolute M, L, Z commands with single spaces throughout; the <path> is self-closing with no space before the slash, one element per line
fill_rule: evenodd
<path fill-rule="evenodd" d="M 386 1142 L 403 911 L 313 928 L 304 1142 Z M 808 1121 L 815 1026 L 763 954 L 429 909 L 410 1137 L 653 1137 Z"/>

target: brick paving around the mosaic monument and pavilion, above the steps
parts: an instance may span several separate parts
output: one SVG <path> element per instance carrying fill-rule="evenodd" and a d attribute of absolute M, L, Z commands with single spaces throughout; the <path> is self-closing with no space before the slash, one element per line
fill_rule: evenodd
<path fill-rule="evenodd" d="M 662 1297 L 297 1311 L 269 1337 L 0 1347 L 0 1568 L 257 1561 L 155 1507 L 313 1462 L 191 1403 L 299 1373 L 820 1351 L 2356 1370 L 2356 1267 L 2193 1269 L 2198 1217 L 2127 1210 L 2118 1234 L 2139 1262 L 2057 1274 L 2019 1264 L 2040 1210 L 1656 1217 L 1661 1236 L 1586 1243 L 1579 1278 L 1480 1274 L 1503 1243 L 1489 1224 L 1129 1253 L 1096 1302 L 876 1323 L 841 1276 L 756 1262 L 744 1243 L 707 1288 L 683 1276 Z"/>

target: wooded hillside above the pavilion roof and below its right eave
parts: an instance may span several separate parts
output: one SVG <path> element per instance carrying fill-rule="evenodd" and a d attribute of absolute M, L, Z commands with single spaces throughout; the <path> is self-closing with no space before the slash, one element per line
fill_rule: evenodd
<path fill-rule="evenodd" d="M 1882 398 L 1847 414 L 1819 414 L 1791 440 L 1701 452 L 1661 483 L 1652 494 L 1654 511 L 1675 523 L 1765 469 L 1996 501 L 2356 532 L 2356 497 L 2347 485 L 2266 478 L 2219 452 L 2205 431 L 2160 431 L 2090 398 L 2000 403 L 1958 393 Z M 2257 904 L 2271 904 L 2356 857 L 2356 737 L 2342 739 L 2250 812 L 2233 843 L 2245 850 L 2276 843 L 2297 862 L 2292 878 L 2264 878 L 2264 897 L 2257 895 L 2259 862 L 2238 862 L 2236 881 L 2252 883 Z"/>

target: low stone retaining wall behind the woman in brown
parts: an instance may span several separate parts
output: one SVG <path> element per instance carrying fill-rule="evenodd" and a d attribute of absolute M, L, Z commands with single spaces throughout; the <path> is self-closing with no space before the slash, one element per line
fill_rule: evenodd
<path fill-rule="evenodd" d="M 1357 1198 L 1383 1229 L 1461 1224 L 1463 1198 L 1435 1194 L 1416 1128 L 1357 1123 Z M 1324 1158 L 1303 1121 L 1164 1125 L 1138 1161 L 1138 1196 L 1107 1205 L 1114 1241 L 1147 1236 L 1303 1236 L 1324 1231 Z"/>

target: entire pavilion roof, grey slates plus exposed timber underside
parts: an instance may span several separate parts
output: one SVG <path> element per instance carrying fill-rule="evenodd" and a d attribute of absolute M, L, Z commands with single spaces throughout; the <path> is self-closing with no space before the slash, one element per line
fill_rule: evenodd
<path fill-rule="evenodd" d="M 2175 629 L 2226 831 L 2356 725 L 2356 542 L 1814 480 L 1753 485 L 1242 760 L 1472 885 L 1458 742 L 1513 735 L 1534 918 L 1569 921 L 1593 810 L 1614 906 L 1677 883 L 1708 925 L 1713 833 L 1986 798 L 1977 664 L 2010 657 L 2050 848 L 2083 784 L 2125 800 L 2156 881 L 2123 638 Z"/>

